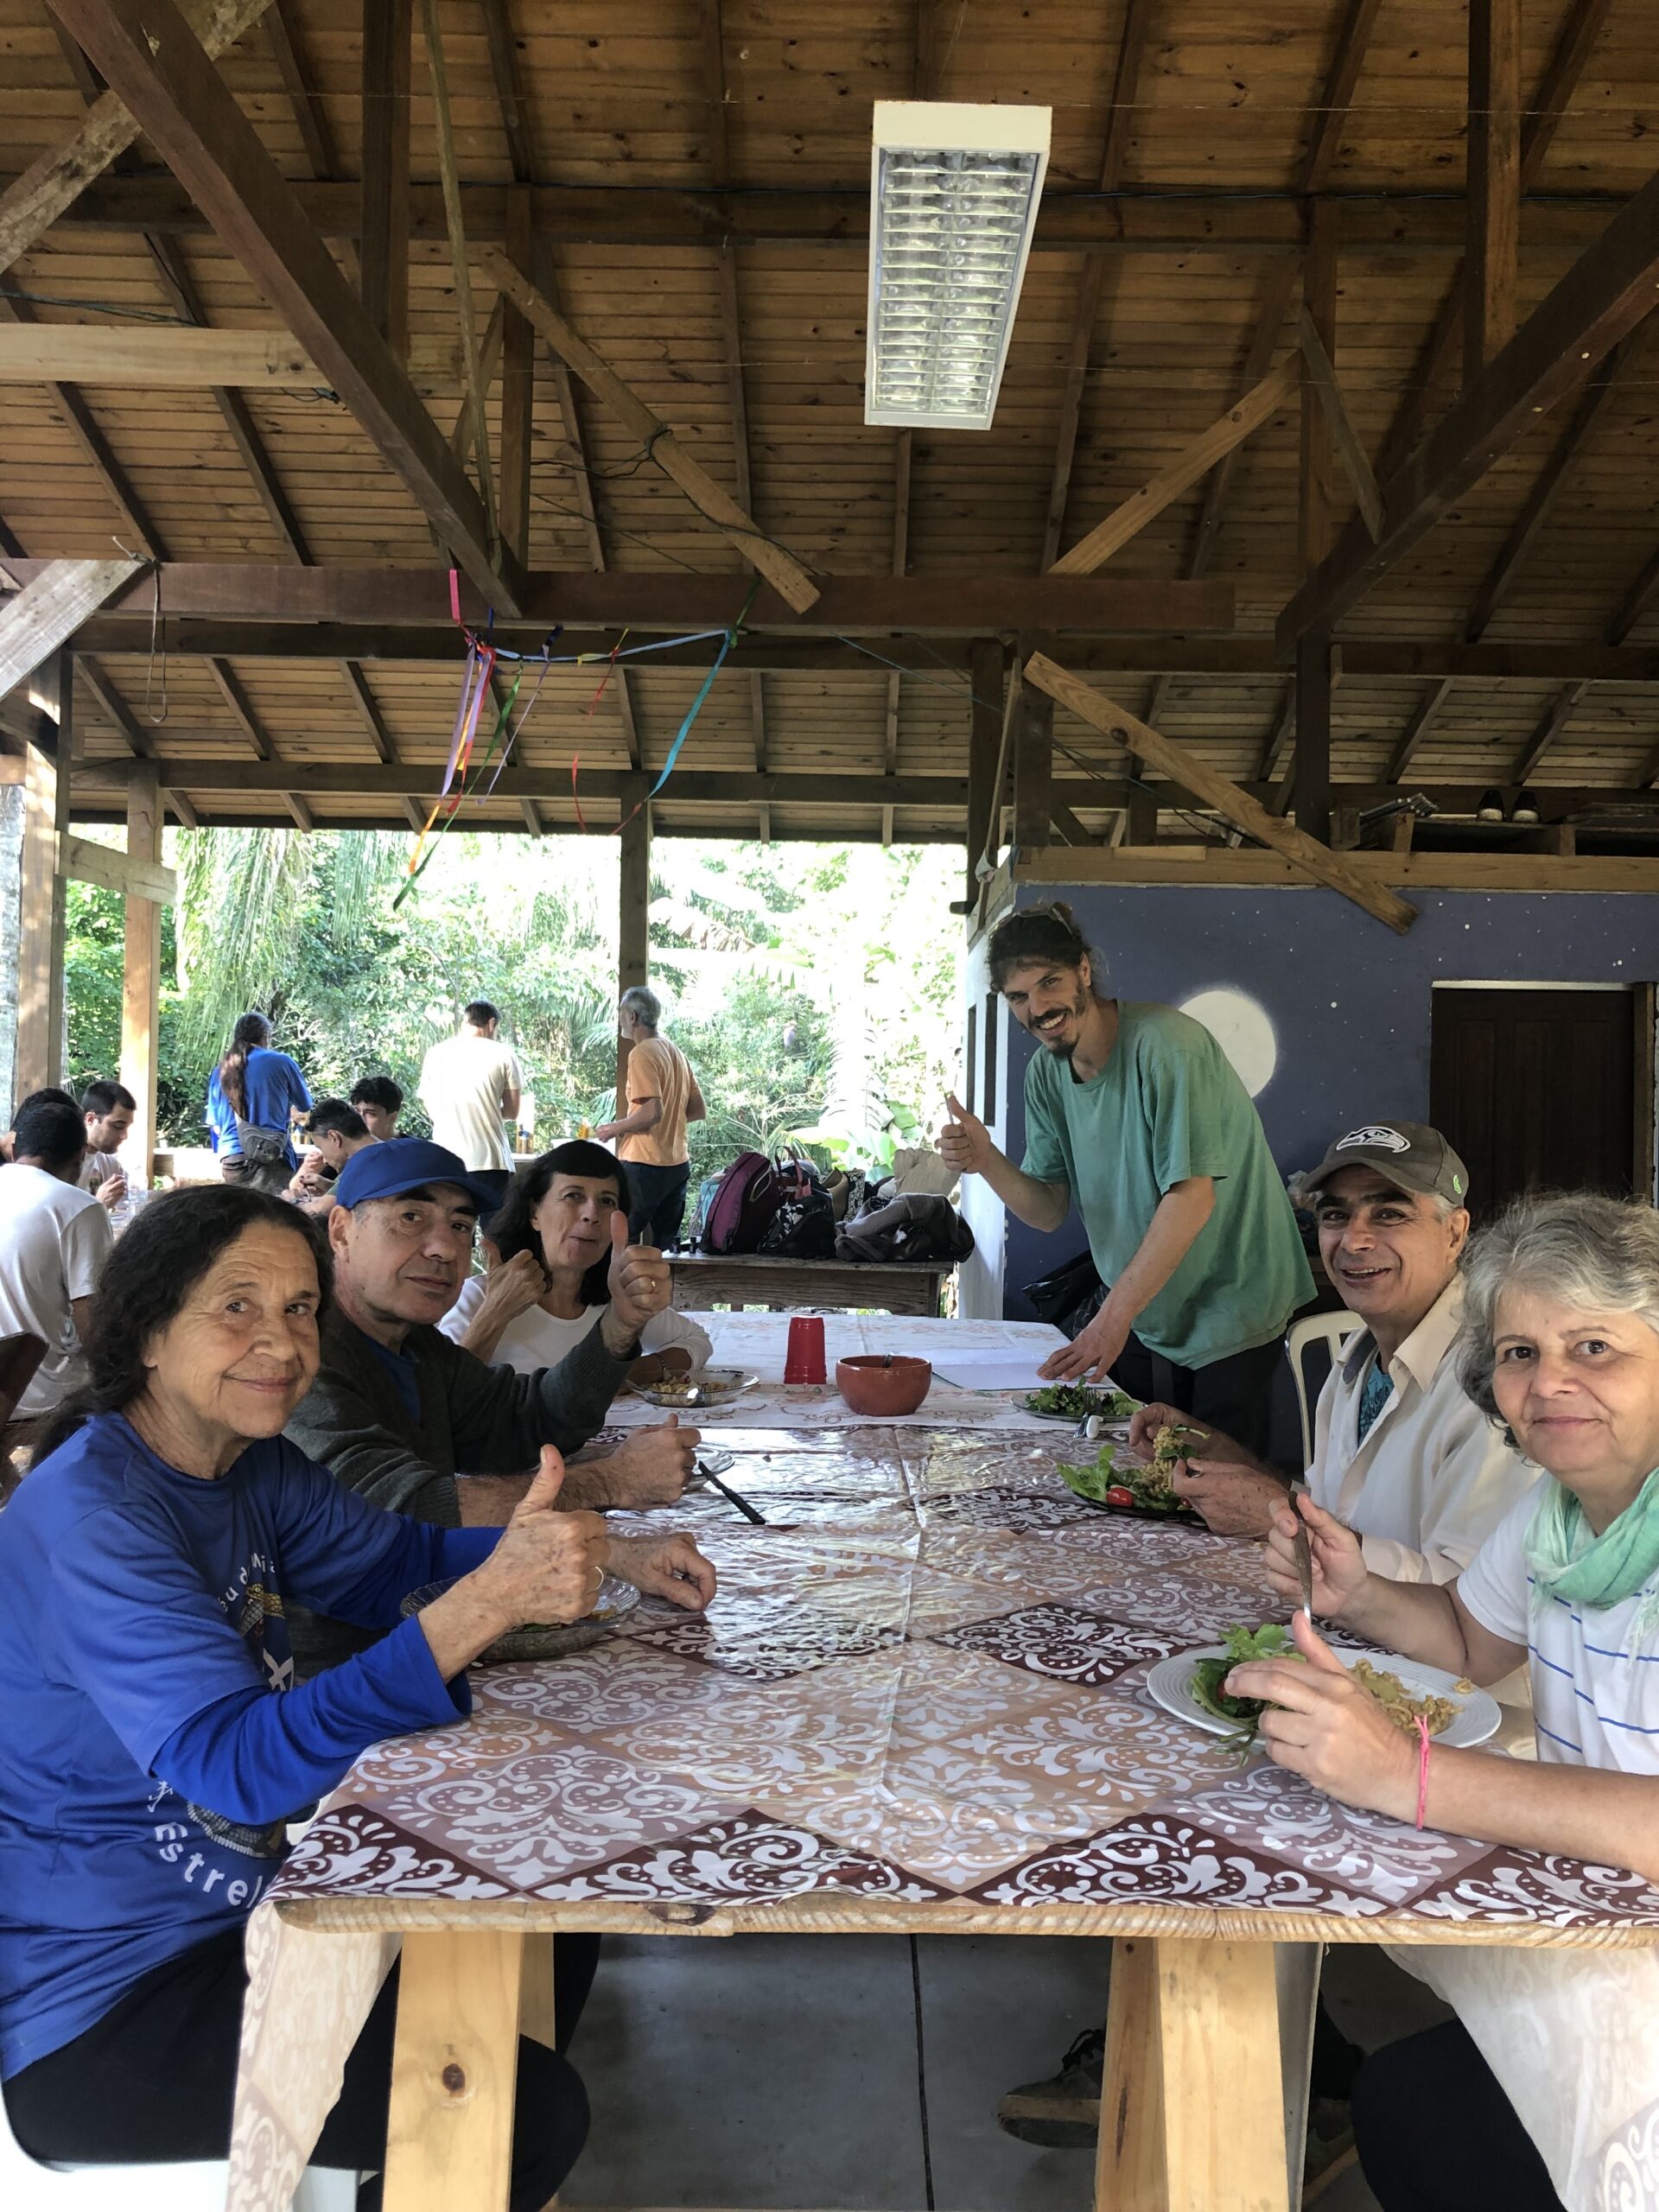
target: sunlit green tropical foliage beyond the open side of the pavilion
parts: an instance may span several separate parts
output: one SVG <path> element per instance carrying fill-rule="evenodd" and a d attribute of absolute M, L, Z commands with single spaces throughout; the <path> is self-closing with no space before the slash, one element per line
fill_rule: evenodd
<path fill-rule="evenodd" d="M 409 841 L 296 830 L 170 832 L 161 1126 L 201 1141 L 208 1073 L 248 1006 L 268 1011 L 319 1095 L 389 1073 L 405 1128 L 429 1044 L 467 1000 L 502 1009 L 555 1141 L 613 1110 L 617 841 L 451 830 L 414 889 Z M 891 1159 L 953 1079 L 951 847 L 659 838 L 650 971 L 708 1121 L 692 1175 L 812 1133 L 821 1157 Z M 175 933 L 177 925 L 177 933 Z M 122 900 L 69 887 L 71 1073 L 119 1060 Z"/>

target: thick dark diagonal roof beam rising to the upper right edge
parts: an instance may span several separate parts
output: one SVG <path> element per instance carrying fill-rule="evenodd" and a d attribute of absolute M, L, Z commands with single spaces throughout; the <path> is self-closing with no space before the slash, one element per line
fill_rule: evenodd
<path fill-rule="evenodd" d="M 1533 310 L 1413 456 L 1383 487 L 1383 538 L 1356 518 L 1279 617 L 1279 650 L 1329 628 L 1411 551 L 1540 414 L 1659 303 L 1659 177 Z"/>

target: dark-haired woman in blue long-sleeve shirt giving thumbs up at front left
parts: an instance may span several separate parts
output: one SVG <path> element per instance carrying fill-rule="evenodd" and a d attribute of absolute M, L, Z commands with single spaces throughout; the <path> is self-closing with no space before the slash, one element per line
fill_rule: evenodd
<path fill-rule="evenodd" d="M 577 1619 L 599 1588 L 604 1522 L 553 1511 L 555 1451 L 507 1528 L 434 1528 L 283 1438 L 327 1294 L 279 1199 L 146 1208 L 104 1270 L 88 1387 L 0 1515 L 0 2077 L 35 2159 L 228 2154 L 243 1924 L 288 1820 L 372 1743 L 462 1719 L 467 1663 L 507 1628 Z M 385 1635 L 296 1683 L 292 1601 Z M 562 2033 L 593 1953 L 562 1938 Z M 316 2166 L 385 2163 L 394 2013 L 389 1982 Z M 522 2042 L 513 2212 L 546 2203 L 584 2132 L 575 2073 Z"/>

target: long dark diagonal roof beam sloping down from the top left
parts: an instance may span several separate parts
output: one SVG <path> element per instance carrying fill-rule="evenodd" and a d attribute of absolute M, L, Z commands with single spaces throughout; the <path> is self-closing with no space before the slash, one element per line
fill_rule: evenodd
<path fill-rule="evenodd" d="M 522 573 L 414 385 L 173 0 L 53 0 L 88 58 L 502 613 Z"/>

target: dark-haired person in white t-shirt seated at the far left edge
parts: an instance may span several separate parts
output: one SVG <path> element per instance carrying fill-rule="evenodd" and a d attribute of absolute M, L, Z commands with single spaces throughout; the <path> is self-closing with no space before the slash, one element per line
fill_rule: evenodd
<path fill-rule="evenodd" d="M 108 1212 L 77 1188 L 84 1157 L 80 1106 L 31 1099 L 18 1110 L 11 1166 L 0 1168 L 0 1336 L 46 1345 L 18 1420 L 49 1413 L 86 1380 L 82 1343 L 115 1234 Z"/>

